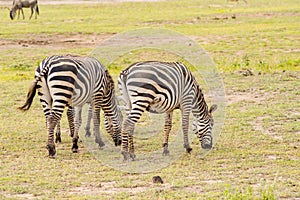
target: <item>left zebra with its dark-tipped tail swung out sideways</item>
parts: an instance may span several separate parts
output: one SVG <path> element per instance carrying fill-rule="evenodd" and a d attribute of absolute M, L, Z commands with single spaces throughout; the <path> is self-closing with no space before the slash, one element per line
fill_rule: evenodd
<path fill-rule="evenodd" d="M 54 156 L 56 153 L 54 128 L 60 121 L 65 107 L 76 107 L 72 151 L 78 151 L 81 107 L 85 103 L 90 103 L 93 108 L 96 143 L 100 147 L 104 145 L 99 132 L 101 108 L 108 122 L 111 123 L 115 144 L 119 143 L 122 114 L 117 106 L 114 82 L 107 69 L 96 59 L 71 55 L 46 58 L 36 69 L 35 79 L 29 88 L 26 102 L 19 109 L 30 108 L 36 90 L 47 122 L 49 156 Z M 69 111 L 67 114 L 71 116 L 74 112 Z M 72 124 L 72 120 L 69 120 L 70 122 Z"/>

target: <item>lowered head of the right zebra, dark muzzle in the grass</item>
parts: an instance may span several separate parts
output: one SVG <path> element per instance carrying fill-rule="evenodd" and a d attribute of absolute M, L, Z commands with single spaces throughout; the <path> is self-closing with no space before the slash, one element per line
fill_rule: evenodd
<path fill-rule="evenodd" d="M 195 132 L 195 134 L 197 134 L 203 149 L 212 148 L 212 127 L 214 125 L 212 112 L 216 109 L 217 105 L 212 105 L 204 119 L 196 118 L 192 124 L 192 130 Z"/>

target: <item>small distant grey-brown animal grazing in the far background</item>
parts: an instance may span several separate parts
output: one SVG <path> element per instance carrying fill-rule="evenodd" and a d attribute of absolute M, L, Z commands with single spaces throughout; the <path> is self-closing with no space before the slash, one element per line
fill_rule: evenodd
<path fill-rule="evenodd" d="M 37 18 L 37 15 L 39 15 L 39 6 L 37 4 L 37 0 L 14 0 L 13 1 L 13 7 L 10 10 L 9 16 L 10 19 L 14 19 L 16 12 L 18 11 L 18 19 L 20 17 L 20 10 L 23 15 L 23 19 L 25 19 L 23 8 L 31 8 L 31 15 L 29 19 L 31 19 L 34 11 L 35 11 L 35 19 Z"/>

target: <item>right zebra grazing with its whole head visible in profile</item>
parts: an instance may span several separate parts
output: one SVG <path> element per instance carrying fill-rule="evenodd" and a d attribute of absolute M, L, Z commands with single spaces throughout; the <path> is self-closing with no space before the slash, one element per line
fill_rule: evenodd
<path fill-rule="evenodd" d="M 193 131 L 196 131 L 203 149 L 212 148 L 212 112 L 192 73 L 181 63 L 138 62 L 121 72 L 118 85 L 127 106 L 122 127 L 122 154 L 124 160 L 134 160 L 133 132 L 135 123 L 144 111 L 165 113 L 163 155 L 169 153 L 168 140 L 174 109 L 181 110 L 184 148 L 190 152 L 188 141 L 189 115 L 193 113 Z"/>

